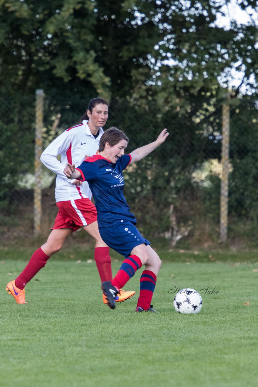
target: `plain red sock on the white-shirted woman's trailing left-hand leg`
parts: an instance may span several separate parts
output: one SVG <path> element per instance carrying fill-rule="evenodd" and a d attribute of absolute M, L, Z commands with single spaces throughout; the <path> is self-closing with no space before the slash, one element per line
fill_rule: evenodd
<path fill-rule="evenodd" d="M 36 250 L 29 260 L 25 269 L 21 272 L 21 274 L 15 279 L 15 285 L 17 288 L 23 290 L 26 284 L 31 281 L 31 279 L 38 273 L 42 267 L 45 266 L 46 261 L 49 259 L 48 255 L 46 255 L 41 247 Z"/>

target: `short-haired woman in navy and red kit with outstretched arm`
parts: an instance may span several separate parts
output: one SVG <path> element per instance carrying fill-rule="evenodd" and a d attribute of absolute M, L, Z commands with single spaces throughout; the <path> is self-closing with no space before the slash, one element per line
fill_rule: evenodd
<path fill-rule="evenodd" d="M 97 208 L 97 221 L 101 238 L 115 251 L 124 255 L 118 273 L 112 281 L 102 283 L 108 306 L 114 309 L 115 298 L 137 269 L 145 265 L 140 277 L 140 296 L 135 312 L 155 312 L 151 300 L 161 260 L 135 227 L 135 216 L 130 212 L 123 195 L 122 171 L 130 163 L 139 161 L 154 151 L 167 138 L 167 129 L 157 139 L 143 147 L 125 154 L 128 137 L 116 127 L 109 128 L 101 136 L 99 154 L 86 159 L 80 166 L 67 163 L 64 173 L 69 179 L 87 181 Z"/>

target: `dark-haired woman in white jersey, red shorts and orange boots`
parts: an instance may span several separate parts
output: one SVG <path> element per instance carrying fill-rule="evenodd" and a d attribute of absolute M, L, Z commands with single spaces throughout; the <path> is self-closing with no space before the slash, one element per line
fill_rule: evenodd
<path fill-rule="evenodd" d="M 32 254 L 21 274 L 7 284 L 6 290 L 19 304 L 26 303 L 26 284 L 45 266 L 51 255 L 62 248 L 68 236 L 79 228 L 83 228 L 96 241 L 94 259 L 101 282 L 112 279 L 109 247 L 99 234 L 97 212 L 91 201 L 89 185 L 87 182 L 69 180 L 63 173 L 66 163 L 80 165 L 84 159 L 97 153 L 104 132 L 102 127 L 108 119 L 108 106 L 109 103 L 103 98 L 91 99 L 79 125 L 65 130 L 41 155 L 42 163 L 57 175 L 55 198 L 59 211 L 46 243 Z M 57 159 L 58 155 L 61 161 Z M 134 291 L 121 291 L 116 301 L 125 301 L 134 294 Z M 103 302 L 107 302 L 104 297 Z"/>

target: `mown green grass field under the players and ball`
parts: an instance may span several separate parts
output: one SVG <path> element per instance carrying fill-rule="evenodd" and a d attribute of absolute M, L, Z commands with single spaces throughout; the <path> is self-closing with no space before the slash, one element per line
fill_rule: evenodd
<path fill-rule="evenodd" d="M 92 250 L 53 256 L 26 286 L 29 305 L 16 304 L 5 285 L 32 252 L 1 250 L 1 387 L 257 385 L 256 253 L 160 252 L 159 313 L 135 313 L 140 273 L 125 286 L 137 295 L 110 310 L 87 262 Z M 182 315 L 173 309 L 178 286 L 215 290 L 202 292 L 199 314 Z"/>

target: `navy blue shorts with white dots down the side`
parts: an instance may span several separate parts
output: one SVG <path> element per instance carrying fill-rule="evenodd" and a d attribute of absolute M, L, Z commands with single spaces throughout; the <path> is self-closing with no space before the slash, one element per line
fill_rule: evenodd
<path fill-rule="evenodd" d="M 142 243 L 145 243 L 146 246 L 150 245 L 150 242 L 141 235 L 135 225 L 127 220 L 112 224 L 109 227 L 99 228 L 99 233 L 109 247 L 125 258 L 136 246 Z"/>

